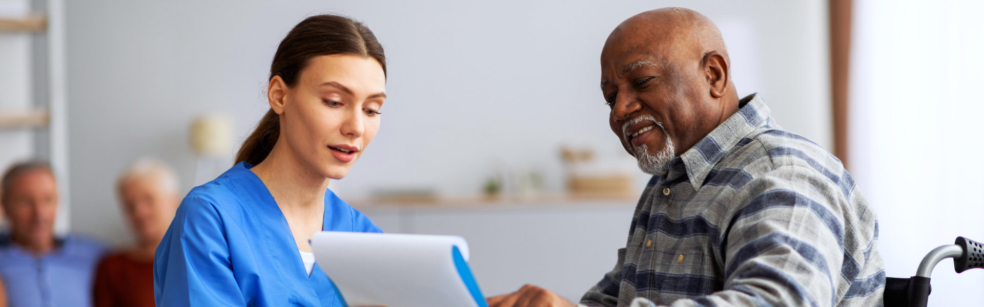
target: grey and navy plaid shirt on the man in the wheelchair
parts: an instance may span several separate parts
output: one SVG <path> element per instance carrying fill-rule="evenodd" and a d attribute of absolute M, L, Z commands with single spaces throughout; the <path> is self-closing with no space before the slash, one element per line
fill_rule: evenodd
<path fill-rule="evenodd" d="M 836 157 L 758 94 L 653 176 L 586 306 L 881 306 L 878 221 Z"/>

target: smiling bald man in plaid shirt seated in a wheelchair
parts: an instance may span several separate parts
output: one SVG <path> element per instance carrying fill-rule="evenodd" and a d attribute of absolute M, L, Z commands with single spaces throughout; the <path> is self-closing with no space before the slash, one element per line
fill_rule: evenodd
<path fill-rule="evenodd" d="M 739 99 L 720 32 L 682 8 L 608 36 L 609 125 L 652 174 L 618 263 L 585 306 L 878 306 L 875 213 L 843 165 Z M 489 305 L 571 306 L 525 285 Z"/>

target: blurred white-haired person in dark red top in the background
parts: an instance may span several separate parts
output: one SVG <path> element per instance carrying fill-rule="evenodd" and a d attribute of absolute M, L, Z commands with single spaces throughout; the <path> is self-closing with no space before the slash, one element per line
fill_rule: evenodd
<path fill-rule="evenodd" d="M 178 178 L 164 162 L 144 158 L 123 171 L 116 192 L 137 244 L 99 263 L 95 307 L 154 306 L 154 251 L 181 201 Z"/>

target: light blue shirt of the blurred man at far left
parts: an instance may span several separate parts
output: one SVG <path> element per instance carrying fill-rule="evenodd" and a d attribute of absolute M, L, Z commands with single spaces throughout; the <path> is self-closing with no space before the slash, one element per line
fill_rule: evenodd
<path fill-rule="evenodd" d="M 68 235 L 54 251 L 34 256 L 0 237 L 0 277 L 11 307 L 92 306 L 92 278 L 105 247 L 92 239 Z"/>

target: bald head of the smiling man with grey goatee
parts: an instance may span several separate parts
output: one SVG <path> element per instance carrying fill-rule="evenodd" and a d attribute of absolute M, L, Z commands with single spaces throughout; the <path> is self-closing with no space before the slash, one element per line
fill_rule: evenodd
<path fill-rule="evenodd" d="M 646 172 L 665 173 L 670 158 L 737 111 L 730 66 L 720 31 L 690 9 L 647 11 L 609 34 L 601 51 L 609 124 Z"/>

